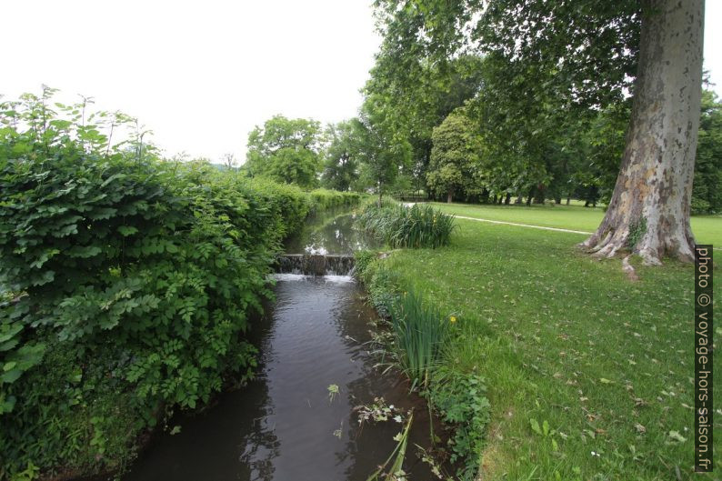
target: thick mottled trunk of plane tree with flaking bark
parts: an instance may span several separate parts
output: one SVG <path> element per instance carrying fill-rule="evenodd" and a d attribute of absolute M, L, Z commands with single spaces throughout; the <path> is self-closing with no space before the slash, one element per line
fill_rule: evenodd
<path fill-rule="evenodd" d="M 689 227 L 702 85 L 704 0 L 647 0 L 627 146 L 612 199 L 582 246 L 646 264 L 694 259 Z M 647 229 L 643 225 L 646 223 Z M 637 243 L 629 246 L 630 231 Z M 643 232 L 643 233 L 642 233 Z"/>

